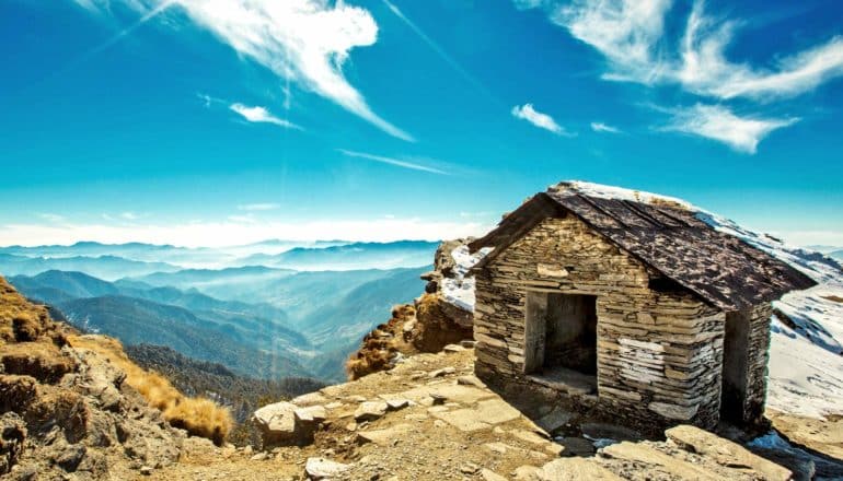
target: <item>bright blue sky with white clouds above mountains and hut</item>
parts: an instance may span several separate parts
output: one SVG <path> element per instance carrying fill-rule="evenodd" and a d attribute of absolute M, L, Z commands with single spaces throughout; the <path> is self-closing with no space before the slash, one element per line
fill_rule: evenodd
<path fill-rule="evenodd" d="M 843 4 L 8 0 L 0 244 L 480 234 L 562 179 L 843 245 Z"/>

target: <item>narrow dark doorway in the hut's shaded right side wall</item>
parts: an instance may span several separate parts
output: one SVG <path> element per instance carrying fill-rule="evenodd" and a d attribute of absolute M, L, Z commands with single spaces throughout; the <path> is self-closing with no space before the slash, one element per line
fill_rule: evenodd
<path fill-rule="evenodd" d="M 726 313 L 726 338 L 723 343 L 723 389 L 720 419 L 743 422 L 747 400 L 747 348 L 749 316 L 744 312 Z"/>

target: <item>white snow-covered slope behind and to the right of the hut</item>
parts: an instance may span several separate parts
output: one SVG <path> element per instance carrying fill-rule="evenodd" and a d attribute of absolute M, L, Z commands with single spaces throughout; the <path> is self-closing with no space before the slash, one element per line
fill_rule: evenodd
<path fill-rule="evenodd" d="M 835 260 L 752 232 L 681 199 L 577 180 L 567 187 L 592 197 L 680 206 L 817 281 L 819 285 L 774 303 L 767 406 L 815 418 L 843 414 L 843 270 Z"/>

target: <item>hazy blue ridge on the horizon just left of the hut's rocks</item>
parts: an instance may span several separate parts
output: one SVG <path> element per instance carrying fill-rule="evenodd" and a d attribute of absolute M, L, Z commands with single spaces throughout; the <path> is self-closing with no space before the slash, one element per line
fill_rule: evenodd
<path fill-rule="evenodd" d="M 297 270 L 358 270 L 418 267 L 430 263 L 439 243 L 399 241 L 354 243 L 332 247 L 298 247 L 277 255 L 255 254 L 244 263 Z"/>

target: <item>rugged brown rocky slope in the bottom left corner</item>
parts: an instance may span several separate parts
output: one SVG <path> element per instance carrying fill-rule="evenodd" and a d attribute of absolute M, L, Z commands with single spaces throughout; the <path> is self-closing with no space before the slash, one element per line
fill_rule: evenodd
<path fill-rule="evenodd" d="M 0 474 L 119 479 L 177 461 L 185 433 L 72 335 L 0 279 Z"/>

